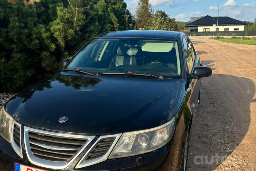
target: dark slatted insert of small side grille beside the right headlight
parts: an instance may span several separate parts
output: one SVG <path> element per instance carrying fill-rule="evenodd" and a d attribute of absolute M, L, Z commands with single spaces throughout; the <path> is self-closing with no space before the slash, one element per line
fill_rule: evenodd
<path fill-rule="evenodd" d="M 92 152 L 88 155 L 86 160 L 92 160 L 104 156 L 108 152 L 110 146 L 113 144 L 115 139 L 116 137 L 101 139 L 98 142 L 98 144 L 94 147 Z"/>

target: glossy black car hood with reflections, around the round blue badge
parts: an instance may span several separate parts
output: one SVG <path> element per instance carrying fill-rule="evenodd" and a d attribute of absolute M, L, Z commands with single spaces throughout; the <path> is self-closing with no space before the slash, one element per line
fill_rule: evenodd
<path fill-rule="evenodd" d="M 17 122 L 46 130 L 97 135 L 142 130 L 174 117 L 185 83 L 59 72 L 13 97 L 5 109 Z M 68 120 L 59 123 L 63 116 Z"/>

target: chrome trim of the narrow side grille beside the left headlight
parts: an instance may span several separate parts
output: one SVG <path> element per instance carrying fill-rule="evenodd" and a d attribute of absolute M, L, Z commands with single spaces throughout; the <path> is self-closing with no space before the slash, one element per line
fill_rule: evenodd
<path fill-rule="evenodd" d="M 20 156 L 20 158 L 23 158 L 20 137 L 21 125 L 14 120 L 13 125 L 11 127 L 11 146 L 13 147 L 14 151 L 18 154 L 18 156 Z"/>

